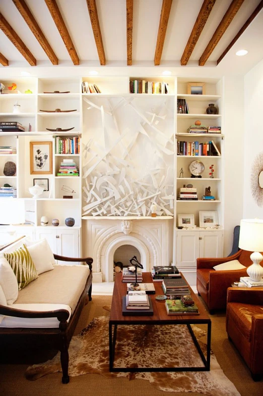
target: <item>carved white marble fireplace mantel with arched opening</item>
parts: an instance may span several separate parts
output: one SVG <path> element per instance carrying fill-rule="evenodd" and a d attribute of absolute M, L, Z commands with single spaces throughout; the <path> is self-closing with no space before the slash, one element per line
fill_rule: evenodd
<path fill-rule="evenodd" d="M 122 245 L 134 246 L 143 271 L 172 261 L 173 217 L 84 216 L 84 254 L 93 258 L 93 281 L 113 281 L 113 259 Z"/>

